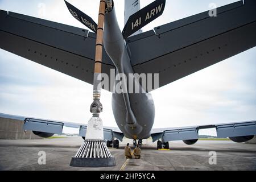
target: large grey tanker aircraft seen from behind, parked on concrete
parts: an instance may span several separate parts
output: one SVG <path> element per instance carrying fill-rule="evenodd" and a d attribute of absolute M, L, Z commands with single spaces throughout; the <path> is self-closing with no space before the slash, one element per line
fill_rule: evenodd
<path fill-rule="evenodd" d="M 0 10 L 0 48 L 93 84 L 97 24 L 69 2 L 65 3 L 69 13 L 93 32 Z M 106 0 L 106 5 L 102 73 L 110 78 L 113 70 L 114 76 L 155 74 L 159 76 L 160 88 L 256 45 L 254 0 L 218 7 L 216 16 L 205 11 L 147 32 L 142 32 L 142 27 L 163 14 L 166 0 L 156 0 L 143 9 L 139 0 L 125 0 L 123 31 L 118 26 L 114 1 Z M 120 80 L 110 80 L 103 89 L 113 92 L 119 83 Z M 122 91 L 131 84 L 141 92 L 113 92 L 112 108 L 118 128 L 104 127 L 108 147 L 118 148 L 123 137 L 133 139 L 134 145 L 138 140 L 140 146 L 143 139 L 152 137 L 153 142 L 158 141 L 158 149 L 169 148 L 168 142 L 172 140 L 195 144 L 199 130 L 209 128 L 216 129 L 217 137 L 229 137 L 234 142 L 246 142 L 256 135 L 256 121 L 152 129 L 155 106 L 150 92 L 157 88 L 143 85 L 135 78 L 132 83 L 125 82 Z M 86 125 L 79 123 L 21 118 L 23 129 L 40 137 L 61 134 L 64 126 L 79 127 L 81 137 L 86 134 Z"/>

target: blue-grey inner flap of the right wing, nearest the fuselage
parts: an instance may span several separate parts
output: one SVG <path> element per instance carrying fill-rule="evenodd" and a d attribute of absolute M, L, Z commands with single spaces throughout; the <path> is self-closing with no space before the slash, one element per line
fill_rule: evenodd
<path fill-rule="evenodd" d="M 198 139 L 199 135 L 196 128 L 181 129 L 181 130 L 168 130 L 164 131 L 162 142 L 173 140 L 190 140 Z"/>

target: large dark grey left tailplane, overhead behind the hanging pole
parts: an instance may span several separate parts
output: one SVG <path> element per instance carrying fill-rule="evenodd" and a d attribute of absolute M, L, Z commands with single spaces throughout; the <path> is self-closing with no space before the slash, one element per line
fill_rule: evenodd
<path fill-rule="evenodd" d="M 96 35 L 82 28 L 0 10 L 0 48 L 93 84 Z M 104 51 L 102 72 L 114 68 Z"/>

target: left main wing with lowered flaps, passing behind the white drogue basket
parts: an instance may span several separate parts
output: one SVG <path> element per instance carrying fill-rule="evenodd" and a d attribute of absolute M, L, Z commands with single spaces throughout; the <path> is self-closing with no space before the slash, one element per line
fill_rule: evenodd
<path fill-rule="evenodd" d="M 32 117 L 23 117 L 18 115 L 10 115 L 0 113 L 1 118 L 16 119 L 19 121 L 24 121 L 23 130 L 38 131 L 42 133 L 49 134 L 59 134 L 63 133 L 63 127 L 71 127 L 79 129 L 79 136 L 85 137 L 87 125 L 82 123 L 73 123 L 73 122 L 63 122 L 63 121 L 54 121 L 49 119 L 39 119 Z M 120 141 L 123 140 L 123 133 L 118 127 L 105 127 L 104 126 L 104 139 L 112 141 L 113 138 L 117 138 Z"/>

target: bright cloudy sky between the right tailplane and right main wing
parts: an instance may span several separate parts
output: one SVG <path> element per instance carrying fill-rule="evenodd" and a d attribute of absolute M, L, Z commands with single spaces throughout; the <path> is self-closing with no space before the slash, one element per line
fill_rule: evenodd
<path fill-rule="evenodd" d="M 255 63 L 250 59 L 256 56 L 255 50 L 250 49 L 155 90 L 152 93 L 156 106 L 154 126 L 161 127 L 163 123 L 170 127 L 192 126 L 255 119 L 256 73 L 253 71 Z M 164 98 L 161 93 L 166 93 Z"/>

